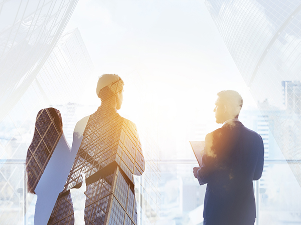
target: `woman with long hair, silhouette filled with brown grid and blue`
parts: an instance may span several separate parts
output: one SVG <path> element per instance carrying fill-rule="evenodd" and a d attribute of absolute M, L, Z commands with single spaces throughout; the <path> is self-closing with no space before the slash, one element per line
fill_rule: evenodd
<path fill-rule="evenodd" d="M 74 157 L 63 133 L 60 111 L 40 110 L 26 156 L 28 192 L 37 195 L 34 224 L 47 224 Z"/>

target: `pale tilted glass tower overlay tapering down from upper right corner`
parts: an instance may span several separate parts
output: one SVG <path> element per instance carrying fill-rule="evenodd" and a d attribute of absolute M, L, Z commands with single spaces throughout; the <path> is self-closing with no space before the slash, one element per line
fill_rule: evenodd
<path fill-rule="evenodd" d="M 228 50 L 254 99 L 268 100 L 268 126 L 301 185 L 300 89 L 282 81 L 301 80 L 301 2 L 298 0 L 205 0 Z M 296 82 L 295 82 L 296 84 Z M 287 86 L 288 85 L 288 86 Z M 261 108 L 260 108 L 261 110 Z"/>

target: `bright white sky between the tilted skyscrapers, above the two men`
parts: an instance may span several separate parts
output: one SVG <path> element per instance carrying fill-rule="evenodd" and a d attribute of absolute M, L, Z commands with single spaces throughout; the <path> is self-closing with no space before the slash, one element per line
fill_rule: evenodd
<path fill-rule="evenodd" d="M 99 105 L 98 76 L 118 74 L 119 113 L 155 130 L 163 151 L 182 146 L 172 143 L 179 138 L 188 146 L 189 122 L 209 124 L 206 133 L 218 127 L 212 110 L 221 90 L 238 91 L 243 108 L 256 106 L 203 0 L 79 0 L 66 31 L 74 28 L 95 66 L 82 102 Z"/>

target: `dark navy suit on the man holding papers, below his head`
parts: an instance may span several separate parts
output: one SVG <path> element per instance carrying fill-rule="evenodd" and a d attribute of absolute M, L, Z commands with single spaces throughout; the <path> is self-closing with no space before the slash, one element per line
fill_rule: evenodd
<path fill-rule="evenodd" d="M 204 218 L 214 225 L 244 225 L 255 221 L 253 180 L 261 177 L 262 138 L 239 121 L 206 135 L 203 164 L 197 172 L 207 184 Z"/>

